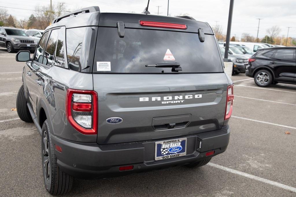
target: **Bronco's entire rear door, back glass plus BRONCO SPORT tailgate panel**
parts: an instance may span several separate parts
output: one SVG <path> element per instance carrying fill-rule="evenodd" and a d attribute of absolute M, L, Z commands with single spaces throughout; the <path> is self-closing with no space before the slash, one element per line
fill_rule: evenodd
<path fill-rule="evenodd" d="M 94 58 L 99 144 L 172 138 L 223 126 L 228 80 L 214 35 L 99 27 Z M 146 65 L 180 63 L 182 71 Z M 110 118 L 121 118 L 117 124 Z M 116 119 L 117 121 L 118 119 Z"/>

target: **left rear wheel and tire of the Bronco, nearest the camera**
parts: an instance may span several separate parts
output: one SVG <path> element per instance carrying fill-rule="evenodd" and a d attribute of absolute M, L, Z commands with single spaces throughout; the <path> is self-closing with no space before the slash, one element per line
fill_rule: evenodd
<path fill-rule="evenodd" d="M 44 185 L 51 195 L 63 195 L 70 192 L 73 185 L 73 177 L 62 172 L 57 165 L 57 157 L 54 154 L 54 146 L 50 139 L 50 130 L 47 120 L 42 126 L 41 157 Z"/>

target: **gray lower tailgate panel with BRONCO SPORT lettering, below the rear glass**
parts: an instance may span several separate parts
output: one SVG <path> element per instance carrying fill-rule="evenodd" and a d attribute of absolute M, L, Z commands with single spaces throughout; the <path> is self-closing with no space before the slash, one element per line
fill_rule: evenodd
<path fill-rule="evenodd" d="M 99 99 L 97 142 L 162 139 L 221 128 L 227 86 L 224 73 L 94 74 Z M 148 101 L 140 101 L 141 97 Z M 110 117 L 123 121 L 109 124 Z M 177 128 L 169 128 L 169 123 L 177 123 Z"/>

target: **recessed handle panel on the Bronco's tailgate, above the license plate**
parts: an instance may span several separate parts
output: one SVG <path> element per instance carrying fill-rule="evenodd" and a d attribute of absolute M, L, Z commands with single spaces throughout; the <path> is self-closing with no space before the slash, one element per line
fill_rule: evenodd
<path fill-rule="evenodd" d="M 190 120 L 191 114 L 157 117 L 152 119 L 152 127 L 154 130 L 182 128 L 186 127 Z"/>

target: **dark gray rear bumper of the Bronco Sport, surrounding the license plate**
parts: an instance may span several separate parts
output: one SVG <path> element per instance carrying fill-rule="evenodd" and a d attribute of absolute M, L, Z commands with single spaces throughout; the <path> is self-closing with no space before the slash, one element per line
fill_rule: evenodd
<path fill-rule="evenodd" d="M 172 139 L 187 138 L 187 154 L 183 157 L 154 160 L 155 142 L 139 141 L 120 144 L 99 145 L 96 143 L 74 143 L 50 135 L 53 144 L 62 147 L 55 150 L 57 163 L 62 171 L 77 178 L 94 179 L 128 175 L 136 172 L 157 170 L 184 165 L 207 158 L 205 152 L 215 150 L 215 156 L 223 153 L 229 143 L 230 128 L 208 131 Z M 200 148 L 200 142 L 201 148 Z M 212 157 L 210 156 L 210 157 Z M 119 171 L 120 166 L 133 165 L 133 170 Z"/>

